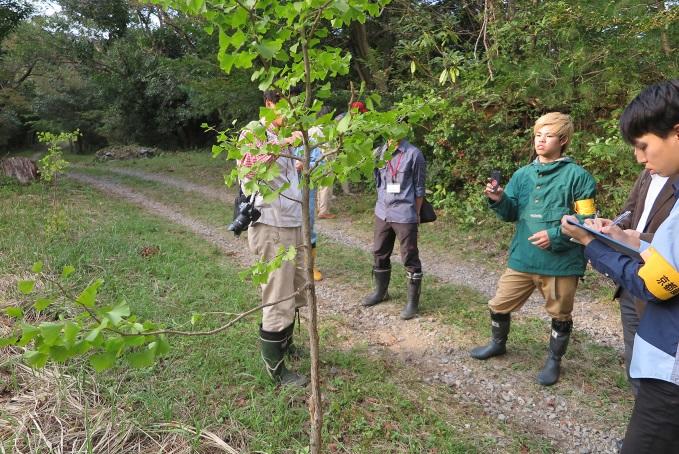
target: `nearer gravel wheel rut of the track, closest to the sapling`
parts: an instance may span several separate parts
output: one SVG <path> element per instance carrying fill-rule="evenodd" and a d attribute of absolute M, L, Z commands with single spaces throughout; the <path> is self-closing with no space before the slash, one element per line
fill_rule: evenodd
<path fill-rule="evenodd" d="M 140 172 L 126 170 L 117 173 L 151 179 Z M 184 226 L 218 246 L 241 265 L 248 265 L 252 260 L 243 240 L 235 239 L 224 227 L 215 228 L 191 219 L 177 208 L 152 200 L 111 178 L 95 178 L 76 172 L 70 173 L 69 177 Z M 187 190 L 197 187 L 165 176 L 155 175 L 153 178 L 154 181 Z M 204 195 L 210 194 L 209 197 L 229 200 L 225 191 L 222 194 L 200 187 L 194 192 L 202 191 L 206 191 Z M 327 227 L 324 226 L 321 231 L 330 232 L 328 236 L 333 238 L 333 231 Z M 364 246 L 356 244 L 356 247 Z M 426 317 L 402 321 L 398 317 L 400 305 L 396 303 L 381 304 L 378 310 L 363 308 L 356 304 L 362 295 L 351 284 L 326 279 L 317 284 L 317 292 L 321 317 L 337 320 L 350 345 L 367 342 L 369 349 L 376 354 L 383 354 L 385 349 L 393 352 L 418 370 L 422 381 L 449 387 L 454 401 L 479 405 L 499 421 L 512 424 L 525 433 L 539 434 L 551 440 L 558 452 L 617 452 L 617 441 L 622 437 L 624 427 L 610 427 L 605 416 L 579 404 L 578 399 L 581 400 L 582 396 L 559 395 L 558 387 L 544 388 L 535 384 L 535 371 L 512 370 L 511 355 L 492 362 L 474 361 L 467 355 L 469 340 L 452 327 Z M 608 411 L 616 411 L 615 405 L 611 405 Z M 497 439 L 500 445 L 506 441 L 499 435 Z M 501 446 L 499 452 L 502 452 Z"/>

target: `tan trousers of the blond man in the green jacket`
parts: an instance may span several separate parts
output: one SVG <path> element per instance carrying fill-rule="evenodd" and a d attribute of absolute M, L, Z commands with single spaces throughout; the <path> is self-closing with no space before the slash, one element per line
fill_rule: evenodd
<path fill-rule="evenodd" d="M 523 306 L 537 288 L 545 298 L 545 310 L 556 320 L 571 320 L 578 276 L 543 276 L 510 268 L 497 283 L 495 296 L 488 301 L 491 312 L 508 314 Z"/>

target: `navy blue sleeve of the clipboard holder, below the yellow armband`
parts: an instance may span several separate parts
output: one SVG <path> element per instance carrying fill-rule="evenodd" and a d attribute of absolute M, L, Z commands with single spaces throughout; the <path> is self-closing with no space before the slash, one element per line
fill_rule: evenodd
<path fill-rule="evenodd" d="M 610 277 L 637 298 L 649 303 L 662 302 L 648 291 L 646 284 L 639 277 L 639 268 L 643 264 L 636 259 L 621 254 L 599 240 L 593 240 L 585 247 L 585 257 L 595 270 Z"/>

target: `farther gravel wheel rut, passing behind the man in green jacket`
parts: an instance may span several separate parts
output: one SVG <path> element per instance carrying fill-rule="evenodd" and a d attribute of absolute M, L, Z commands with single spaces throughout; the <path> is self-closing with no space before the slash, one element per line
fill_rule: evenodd
<path fill-rule="evenodd" d="M 106 170 L 114 174 L 140 178 L 184 191 L 194 192 L 212 200 L 219 200 L 228 204 L 233 203 L 234 196 L 225 187 L 217 189 L 181 180 L 170 175 L 140 170 L 112 167 Z M 359 238 L 355 233 L 351 233 L 351 225 L 340 218 L 332 221 L 319 220 L 316 222 L 317 231 L 336 243 L 371 252 L 370 240 Z M 495 271 L 476 263 L 451 260 L 449 256 L 424 248 L 420 249 L 420 257 L 424 264 L 425 272 L 435 276 L 442 282 L 473 288 L 488 298 L 495 294 L 496 283 L 500 277 Z M 393 258 L 397 262 L 401 260 L 397 253 Z M 543 309 L 543 301 L 536 291 L 521 311 L 515 313 L 514 316 L 518 318 L 537 317 L 548 322 L 550 318 Z M 426 302 L 424 303 L 426 304 Z M 617 304 L 609 301 L 593 301 L 586 292 L 578 292 L 573 310 L 573 323 L 578 330 L 587 333 L 598 344 L 615 348 L 619 352 L 622 351 L 622 326 Z M 549 328 L 546 325 L 545 330 L 547 329 Z"/>

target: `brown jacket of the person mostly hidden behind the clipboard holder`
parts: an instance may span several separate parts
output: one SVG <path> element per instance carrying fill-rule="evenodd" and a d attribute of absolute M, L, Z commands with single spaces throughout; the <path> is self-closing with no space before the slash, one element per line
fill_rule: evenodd
<path fill-rule="evenodd" d="M 656 197 L 651 212 L 648 214 L 648 219 L 646 220 L 646 226 L 644 231 L 639 235 L 639 238 L 647 243 L 653 240 L 653 235 L 660 227 L 660 224 L 667 218 L 674 207 L 676 199 L 674 198 L 674 188 L 673 183 L 679 182 L 679 175 L 671 176 L 665 182 L 665 186 L 660 190 L 658 197 Z M 644 202 L 646 201 L 646 194 L 648 194 L 648 187 L 651 185 L 651 174 L 648 170 L 643 170 L 639 174 L 639 178 L 634 183 L 632 192 L 630 193 L 625 205 L 622 207 L 621 212 L 629 210 L 632 212 L 632 216 L 628 217 L 620 223 L 620 228 L 622 229 L 634 229 L 639 223 L 641 214 L 644 212 Z M 613 298 L 620 296 L 622 291 L 621 287 L 615 290 Z M 635 298 L 636 299 L 636 298 Z M 641 300 L 637 301 L 637 312 L 641 316 L 641 308 L 645 303 Z"/>

